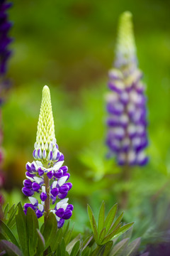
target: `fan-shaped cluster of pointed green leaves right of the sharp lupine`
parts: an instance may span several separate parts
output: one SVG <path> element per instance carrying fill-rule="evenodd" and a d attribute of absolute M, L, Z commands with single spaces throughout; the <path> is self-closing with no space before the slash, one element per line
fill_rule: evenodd
<path fill-rule="evenodd" d="M 101 208 L 98 215 L 98 227 L 96 225 L 96 220 L 94 218 L 94 213 L 92 212 L 90 206 L 87 206 L 89 220 L 91 223 L 91 228 L 94 233 L 94 239 L 97 245 L 105 245 L 109 241 L 118 238 L 120 235 L 125 233 L 133 223 L 129 223 L 121 226 L 121 220 L 123 218 L 123 213 L 115 220 L 115 215 L 117 213 L 118 204 L 115 204 L 109 211 L 105 219 L 105 204 L 101 204 Z M 114 221 L 115 220 L 115 221 Z"/>

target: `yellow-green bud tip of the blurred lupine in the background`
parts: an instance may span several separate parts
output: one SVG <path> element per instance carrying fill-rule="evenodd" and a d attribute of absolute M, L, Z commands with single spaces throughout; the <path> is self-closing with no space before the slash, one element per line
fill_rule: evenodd
<path fill-rule="evenodd" d="M 136 55 L 135 37 L 133 33 L 132 14 L 125 11 L 120 15 L 118 25 L 118 39 L 116 44 L 117 58 L 122 55 L 123 58 L 132 59 Z"/>

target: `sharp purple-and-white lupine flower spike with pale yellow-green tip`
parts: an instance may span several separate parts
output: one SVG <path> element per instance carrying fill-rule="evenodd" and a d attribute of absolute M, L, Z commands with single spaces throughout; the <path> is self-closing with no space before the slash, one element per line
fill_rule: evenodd
<path fill-rule="evenodd" d="M 35 161 L 26 164 L 26 180 L 23 181 L 23 193 L 28 196 L 30 203 L 24 205 L 24 212 L 31 207 L 38 218 L 47 211 L 55 213 L 58 228 L 64 225 L 64 220 L 72 216 L 73 206 L 68 204 L 67 193 L 72 183 L 67 182 L 69 173 L 64 163 L 64 155 L 59 151 L 55 139 L 55 125 L 52 116 L 50 90 L 45 85 L 42 90 L 42 103 L 38 120 L 38 132 L 34 145 Z M 40 194 L 40 203 L 34 198 Z M 53 208 L 50 209 L 50 201 Z"/>

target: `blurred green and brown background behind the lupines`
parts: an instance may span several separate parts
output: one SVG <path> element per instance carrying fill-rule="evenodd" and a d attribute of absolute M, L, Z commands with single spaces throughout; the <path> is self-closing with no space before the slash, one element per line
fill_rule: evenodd
<path fill-rule="evenodd" d="M 8 77 L 13 87 L 3 106 L 6 201 L 21 193 L 27 161 L 33 161 L 42 87 L 51 90 L 55 133 L 73 183 L 75 228 L 87 223 L 86 203 L 94 212 L 128 193 L 125 221 L 135 229 L 151 225 L 155 204 L 164 219 L 170 199 L 170 16 L 169 1 L 13 1 Z M 118 17 L 133 15 L 137 57 L 147 84 L 149 164 L 133 168 L 125 182 L 122 169 L 107 160 L 105 146 L 108 69 L 114 58 Z M 145 230 L 145 227 L 144 227 Z"/>

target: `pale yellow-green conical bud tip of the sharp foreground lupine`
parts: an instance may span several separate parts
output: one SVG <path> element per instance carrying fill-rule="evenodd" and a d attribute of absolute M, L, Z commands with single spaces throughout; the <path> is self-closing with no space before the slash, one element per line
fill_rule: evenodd
<path fill-rule="evenodd" d="M 51 143 L 55 141 L 55 124 L 52 116 L 52 105 L 50 89 L 45 85 L 42 89 L 42 102 L 38 119 L 38 131 L 35 148 L 49 149 Z"/>

